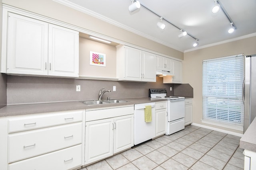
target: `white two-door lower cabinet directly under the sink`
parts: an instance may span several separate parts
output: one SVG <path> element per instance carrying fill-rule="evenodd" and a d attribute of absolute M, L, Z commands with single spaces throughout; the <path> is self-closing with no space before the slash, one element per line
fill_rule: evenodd
<path fill-rule="evenodd" d="M 123 109 L 124 112 L 120 114 L 126 114 L 127 109 L 125 107 Z M 131 111 L 133 113 L 133 110 L 128 110 L 129 114 Z M 92 115 L 97 112 L 99 110 L 91 111 Z M 110 113 L 111 118 L 100 119 L 98 117 L 100 120 L 88 121 L 85 124 L 85 164 L 107 158 L 134 146 L 134 115 L 112 117 L 112 113 L 116 115 L 114 108 L 102 110 L 102 115 L 106 116 L 108 113 L 104 112 Z"/>

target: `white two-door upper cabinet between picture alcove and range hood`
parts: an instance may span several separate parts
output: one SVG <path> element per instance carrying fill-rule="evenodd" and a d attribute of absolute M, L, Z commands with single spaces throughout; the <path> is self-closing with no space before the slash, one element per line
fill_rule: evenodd
<path fill-rule="evenodd" d="M 116 74 L 119 80 L 156 82 L 153 53 L 128 46 L 117 47 Z"/>

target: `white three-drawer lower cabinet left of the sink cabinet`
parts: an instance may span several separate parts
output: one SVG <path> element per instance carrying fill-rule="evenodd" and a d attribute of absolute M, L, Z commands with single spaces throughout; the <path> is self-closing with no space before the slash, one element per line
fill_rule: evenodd
<path fill-rule="evenodd" d="M 0 117 L 0 169 L 69 170 L 82 166 L 84 117 L 85 110 Z"/>

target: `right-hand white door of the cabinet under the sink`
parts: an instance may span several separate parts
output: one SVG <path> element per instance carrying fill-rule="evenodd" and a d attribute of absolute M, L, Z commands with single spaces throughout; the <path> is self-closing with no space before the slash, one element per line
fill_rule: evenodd
<path fill-rule="evenodd" d="M 134 116 L 114 118 L 114 153 L 134 146 Z"/>

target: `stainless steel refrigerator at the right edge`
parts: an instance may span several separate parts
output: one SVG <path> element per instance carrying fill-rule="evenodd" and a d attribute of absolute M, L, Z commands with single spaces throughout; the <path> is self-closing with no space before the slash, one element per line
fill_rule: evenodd
<path fill-rule="evenodd" d="M 245 56 L 244 132 L 256 117 L 256 55 Z"/>

